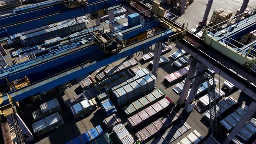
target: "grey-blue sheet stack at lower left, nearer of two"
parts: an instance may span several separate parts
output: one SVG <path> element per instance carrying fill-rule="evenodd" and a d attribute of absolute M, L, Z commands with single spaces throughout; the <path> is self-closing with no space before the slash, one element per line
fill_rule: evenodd
<path fill-rule="evenodd" d="M 32 128 L 34 133 L 37 136 L 40 136 L 53 130 L 54 128 L 58 128 L 62 124 L 64 124 L 62 117 L 59 115 L 59 113 L 54 113 L 40 121 L 33 123 Z"/>

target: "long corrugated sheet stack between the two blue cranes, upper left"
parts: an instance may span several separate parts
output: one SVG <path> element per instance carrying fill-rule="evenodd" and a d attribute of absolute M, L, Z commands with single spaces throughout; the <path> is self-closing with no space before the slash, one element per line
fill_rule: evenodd
<path fill-rule="evenodd" d="M 46 39 L 55 38 L 57 36 L 68 35 L 70 33 L 75 33 L 85 29 L 86 22 L 84 19 L 80 18 L 78 20 L 72 19 L 68 23 L 64 23 L 59 26 L 55 26 L 49 29 L 44 29 L 34 33 L 29 33 L 24 36 L 20 36 L 21 43 L 24 46 L 31 46 L 36 43 L 43 42 Z"/>

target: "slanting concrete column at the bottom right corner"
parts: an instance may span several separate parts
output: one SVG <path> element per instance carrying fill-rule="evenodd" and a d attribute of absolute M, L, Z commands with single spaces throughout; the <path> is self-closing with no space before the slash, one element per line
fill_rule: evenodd
<path fill-rule="evenodd" d="M 246 113 L 243 115 L 243 118 L 240 121 L 238 121 L 236 126 L 233 128 L 233 130 L 226 137 L 226 139 L 223 141 L 222 144 L 229 144 L 230 141 L 232 141 L 232 139 L 236 136 L 236 134 L 243 129 L 244 124 L 246 124 L 246 122 L 249 121 L 249 119 L 253 116 L 255 111 L 256 111 L 256 102 L 253 101 L 249 105 L 249 110 L 246 111 Z"/>

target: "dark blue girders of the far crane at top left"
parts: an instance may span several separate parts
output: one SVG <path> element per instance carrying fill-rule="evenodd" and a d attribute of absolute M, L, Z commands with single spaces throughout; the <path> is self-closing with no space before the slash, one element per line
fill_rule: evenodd
<path fill-rule="evenodd" d="M 88 13 L 95 13 L 98 10 L 125 3 L 124 0 L 89 0 L 87 6 L 72 9 L 60 3 L 32 11 L 16 13 L 0 18 L 0 37 L 36 29 L 62 20 L 83 16 Z"/>

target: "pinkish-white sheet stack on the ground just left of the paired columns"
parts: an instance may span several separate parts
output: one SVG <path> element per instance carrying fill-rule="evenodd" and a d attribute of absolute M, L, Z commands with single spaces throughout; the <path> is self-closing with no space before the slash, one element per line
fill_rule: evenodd
<path fill-rule="evenodd" d="M 164 79 L 166 79 L 169 83 L 175 82 L 178 79 L 184 78 L 187 75 L 188 69 L 189 66 L 186 66 L 183 69 L 164 76 Z"/>

